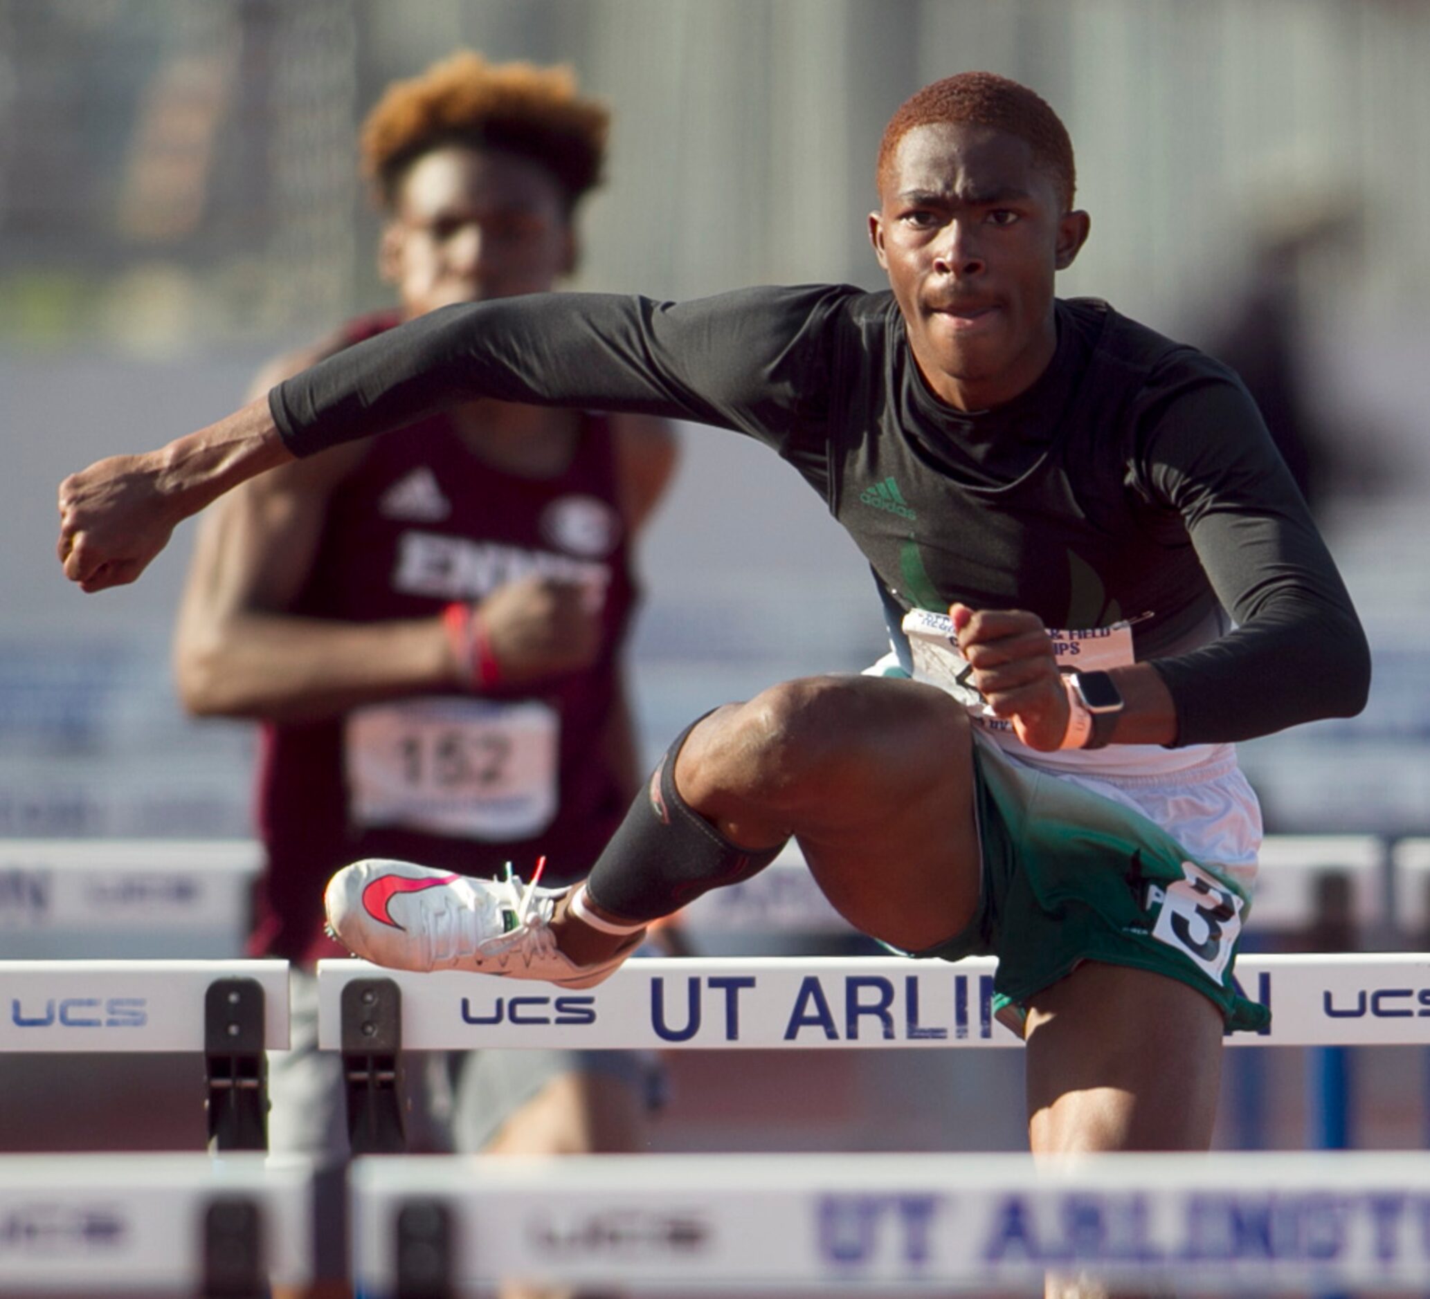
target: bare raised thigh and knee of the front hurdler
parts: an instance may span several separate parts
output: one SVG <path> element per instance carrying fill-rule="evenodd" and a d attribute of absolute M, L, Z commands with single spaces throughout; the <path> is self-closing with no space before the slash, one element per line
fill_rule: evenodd
<path fill-rule="evenodd" d="M 918 682 L 782 682 L 702 719 L 675 783 L 735 843 L 797 837 L 847 920 L 918 952 L 958 933 L 978 903 L 968 727 L 955 700 Z"/>

